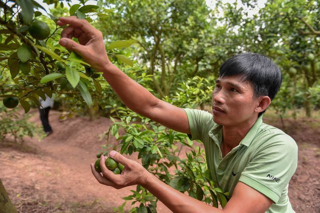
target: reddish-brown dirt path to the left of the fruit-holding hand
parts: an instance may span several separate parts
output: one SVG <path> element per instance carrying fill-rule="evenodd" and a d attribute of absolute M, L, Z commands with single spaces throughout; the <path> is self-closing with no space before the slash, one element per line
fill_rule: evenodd
<path fill-rule="evenodd" d="M 0 149 L 0 171 L 5 171 L 0 178 L 10 198 L 21 212 L 33 212 L 32 208 L 36 212 L 113 212 L 135 187 L 115 190 L 100 185 L 92 176 L 89 165 L 105 144 L 98 137 L 108 129 L 110 120 L 72 118 L 60 122 L 59 114 L 50 111 L 53 133 L 42 141 L 26 139 L 28 147 Z M 39 124 L 37 112 L 31 120 Z M 137 160 L 134 155 L 129 158 Z M 130 203 L 125 209 L 130 209 Z M 158 211 L 170 212 L 161 204 Z"/>

